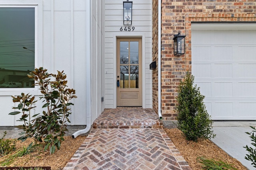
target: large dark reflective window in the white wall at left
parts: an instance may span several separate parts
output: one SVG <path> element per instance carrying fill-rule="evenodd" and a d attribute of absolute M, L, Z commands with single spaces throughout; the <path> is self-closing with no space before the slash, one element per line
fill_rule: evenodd
<path fill-rule="evenodd" d="M 0 88 L 34 88 L 35 6 L 0 6 Z M 8 85 L 12 84 L 12 85 Z"/>

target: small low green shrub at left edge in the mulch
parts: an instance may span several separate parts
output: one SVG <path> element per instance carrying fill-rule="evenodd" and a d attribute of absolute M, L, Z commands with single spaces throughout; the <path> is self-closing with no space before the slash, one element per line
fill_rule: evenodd
<path fill-rule="evenodd" d="M 15 150 L 15 141 L 10 139 L 4 139 L 6 134 L 7 132 L 4 131 L 4 135 L 0 139 L 0 158 Z"/>

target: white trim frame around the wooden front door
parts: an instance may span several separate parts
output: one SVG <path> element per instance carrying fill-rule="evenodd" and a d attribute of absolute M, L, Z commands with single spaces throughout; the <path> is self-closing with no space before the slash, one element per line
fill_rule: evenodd
<path fill-rule="evenodd" d="M 146 108 L 146 66 L 145 66 L 145 61 L 146 61 L 146 45 L 145 45 L 145 33 L 142 34 L 142 33 L 138 33 L 138 32 L 129 32 L 129 33 L 113 33 L 113 65 L 114 65 L 114 68 L 113 68 L 113 75 L 114 75 L 114 82 L 117 81 L 117 75 L 116 75 L 116 39 L 117 38 L 141 38 L 142 40 L 142 107 L 143 108 Z M 144 86 L 143 86 L 144 84 Z M 116 83 L 114 83 L 114 108 L 116 108 L 116 97 L 117 97 L 117 94 L 116 94 Z"/>

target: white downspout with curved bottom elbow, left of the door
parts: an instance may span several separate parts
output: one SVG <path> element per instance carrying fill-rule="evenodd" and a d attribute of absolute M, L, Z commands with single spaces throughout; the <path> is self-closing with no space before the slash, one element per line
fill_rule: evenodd
<path fill-rule="evenodd" d="M 81 129 L 73 133 L 72 138 L 76 138 L 78 135 L 87 133 L 91 129 L 91 11 L 90 0 L 86 0 L 86 128 Z"/>

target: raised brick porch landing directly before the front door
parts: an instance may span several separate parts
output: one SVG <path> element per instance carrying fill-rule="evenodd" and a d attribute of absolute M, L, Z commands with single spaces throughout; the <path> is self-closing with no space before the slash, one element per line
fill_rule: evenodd
<path fill-rule="evenodd" d="M 163 122 L 152 109 L 142 107 L 118 107 L 104 109 L 93 122 L 94 129 L 163 128 Z"/>

